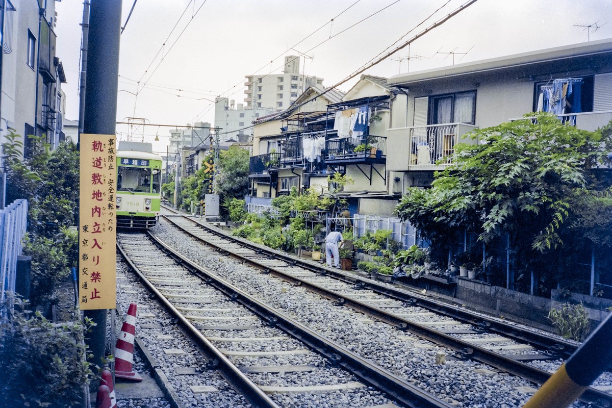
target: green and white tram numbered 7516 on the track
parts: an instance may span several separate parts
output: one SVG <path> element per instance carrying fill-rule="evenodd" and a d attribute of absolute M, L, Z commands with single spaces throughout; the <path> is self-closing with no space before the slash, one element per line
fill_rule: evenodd
<path fill-rule="evenodd" d="M 117 226 L 151 228 L 159 217 L 162 157 L 136 150 L 117 152 Z"/>

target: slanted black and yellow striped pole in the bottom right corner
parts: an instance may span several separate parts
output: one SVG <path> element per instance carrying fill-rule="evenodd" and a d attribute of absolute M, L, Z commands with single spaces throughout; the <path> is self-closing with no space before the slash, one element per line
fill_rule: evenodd
<path fill-rule="evenodd" d="M 606 371 L 612 358 L 612 314 L 597 327 L 523 408 L 564 408 Z"/>

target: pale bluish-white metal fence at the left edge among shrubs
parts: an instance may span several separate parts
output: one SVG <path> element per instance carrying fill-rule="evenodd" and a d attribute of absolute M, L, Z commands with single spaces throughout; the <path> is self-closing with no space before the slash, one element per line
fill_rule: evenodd
<path fill-rule="evenodd" d="M 6 292 L 15 292 L 17 257 L 21 255 L 23 239 L 28 224 L 28 201 L 18 199 L 10 206 L 0 210 L 0 279 L 2 291 L 0 301 L 6 299 Z M 6 311 L 2 311 L 2 317 Z"/>

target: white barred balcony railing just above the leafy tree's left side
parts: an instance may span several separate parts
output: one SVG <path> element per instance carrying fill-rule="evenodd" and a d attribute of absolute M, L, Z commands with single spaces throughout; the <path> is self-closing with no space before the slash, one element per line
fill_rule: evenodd
<path fill-rule="evenodd" d="M 440 124 L 410 128 L 410 162 L 414 167 L 452 164 L 452 154 L 457 143 L 469 143 L 462 138 L 476 129 L 467 124 Z"/>

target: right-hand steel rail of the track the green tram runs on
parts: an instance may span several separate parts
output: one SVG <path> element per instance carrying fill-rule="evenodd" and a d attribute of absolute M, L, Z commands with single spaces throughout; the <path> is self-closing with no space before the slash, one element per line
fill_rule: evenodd
<path fill-rule="evenodd" d="M 172 258 L 181 262 L 188 270 L 200 276 L 206 284 L 225 293 L 235 302 L 241 303 L 243 306 L 253 311 L 253 313 L 264 319 L 267 324 L 280 328 L 294 338 L 304 342 L 319 354 L 324 355 L 330 363 L 341 366 L 367 384 L 383 391 L 389 395 L 390 399 L 395 399 L 395 401 L 411 408 L 452 408 L 452 405 L 447 402 L 426 393 L 420 388 L 415 387 L 411 382 L 390 373 L 386 369 L 340 346 L 340 344 L 319 335 L 307 326 L 280 313 L 280 311 L 275 310 L 271 306 L 260 302 L 228 281 L 219 278 L 209 270 L 195 264 L 174 251 L 161 239 L 155 237 L 151 231 L 147 231 L 147 234 L 149 234 L 154 243 L 160 248 L 163 248 Z"/>

